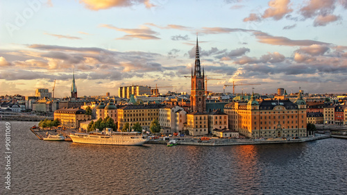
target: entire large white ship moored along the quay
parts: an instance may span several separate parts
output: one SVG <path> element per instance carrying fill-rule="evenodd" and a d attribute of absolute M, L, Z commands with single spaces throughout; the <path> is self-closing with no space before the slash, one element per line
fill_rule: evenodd
<path fill-rule="evenodd" d="M 146 142 L 138 132 L 112 132 L 110 129 L 101 133 L 71 133 L 70 137 L 72 142 L 83 144 L 141 146 Z"/>

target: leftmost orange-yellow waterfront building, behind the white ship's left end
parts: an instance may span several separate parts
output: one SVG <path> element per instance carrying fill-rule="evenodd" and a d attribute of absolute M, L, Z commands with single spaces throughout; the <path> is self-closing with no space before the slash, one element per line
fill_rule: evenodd
<path fill-rule="evenodd" d="M 67 128 L 79 128 L 81 121 L 92 119 L 92 116 L 85 115 L 85 110 L 79 108 L 61 108 L 54 112 L 54 119 L 59 119 L 61 126 Z"/>

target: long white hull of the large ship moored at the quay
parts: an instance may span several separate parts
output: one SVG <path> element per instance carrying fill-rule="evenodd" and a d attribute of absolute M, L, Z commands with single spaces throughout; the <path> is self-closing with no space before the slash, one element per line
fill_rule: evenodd
<path fill-rule="evenodd" d="M 124 145 L 141 146 L 146 139 L 141 137 L 115 137 L 115 136 L 93 136 L 93 135 L 70 135 L 72 142 L 81 144 L 103 144 L 103 145 Z"/>

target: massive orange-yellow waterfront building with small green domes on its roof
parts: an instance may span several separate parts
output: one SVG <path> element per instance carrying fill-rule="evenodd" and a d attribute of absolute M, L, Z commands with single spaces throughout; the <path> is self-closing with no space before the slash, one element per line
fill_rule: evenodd
<path fill-rule="evenodd" d="M 228 103 L 230 130 L 237 130 L 246 137 L 291 137 L 306 136 L 306 103 L 301 93 L 293 103 L 284 100 L 251 100 Z"/>

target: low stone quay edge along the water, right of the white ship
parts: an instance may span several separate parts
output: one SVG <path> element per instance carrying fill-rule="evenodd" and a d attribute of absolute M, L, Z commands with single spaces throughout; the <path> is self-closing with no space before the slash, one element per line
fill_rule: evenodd
<path fill-rule="evenodd" d="M 198 142 L 198 139 L 178 140 L 178 145 L 191 145 L 191 146 L 233 146 L 233 145 L 253 145 L 253 144 L 290 144 L 301 142 L 312 142 L 319 139 L 328 139 L 330 135 L 316 135 L 314 137 L 303 137 L 300 139 L 290 140 L 237 140 L 237 139 L 210 139 L 209 141 Z M 149 141 L 145 144 L 167 144 L 167 141 Z"/>

